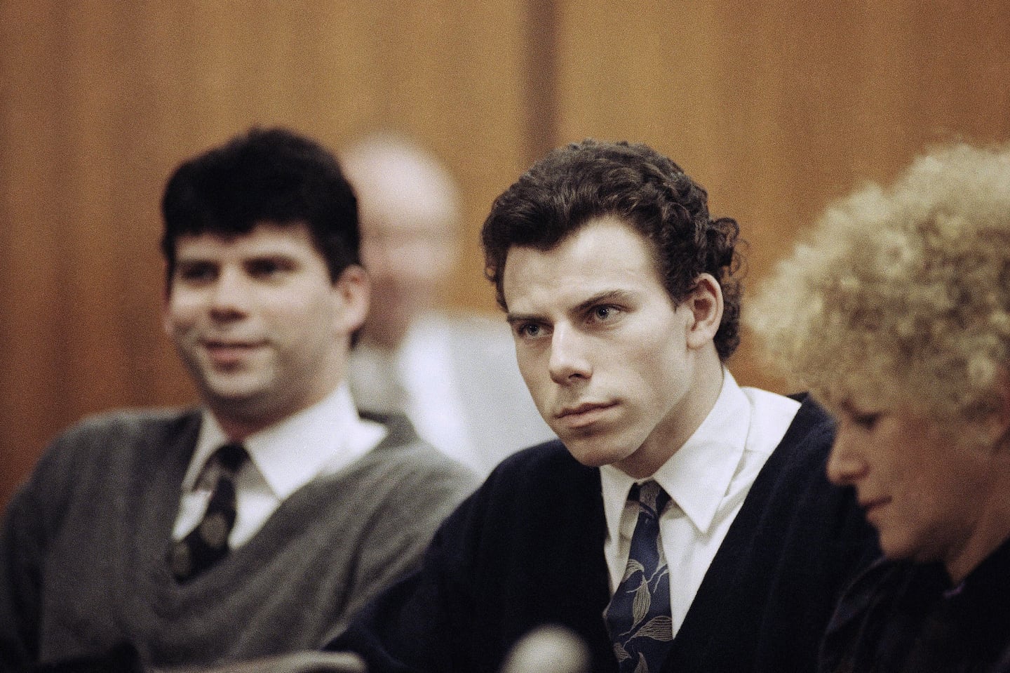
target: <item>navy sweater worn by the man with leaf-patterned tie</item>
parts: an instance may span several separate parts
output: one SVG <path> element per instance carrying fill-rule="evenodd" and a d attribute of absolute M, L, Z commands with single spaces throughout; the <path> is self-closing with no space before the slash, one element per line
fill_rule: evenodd
<path fill-rule="evenodd" d="M 816 667 L 842 589 L 877 556 L 849 489 L 824 476 L 833 424 L 805 399 L 754 482 L 664 670 L 794 673 Z M 537 626 L 579 635 L 593 671 L 616 660 L 596 468 L 561 442 L 503 462 L 441 525 L 416 573 L 382 593 L 329 650 L 370 673 L 497 671 Z M 674 580 L 676 581 L 676 580 Z"/>

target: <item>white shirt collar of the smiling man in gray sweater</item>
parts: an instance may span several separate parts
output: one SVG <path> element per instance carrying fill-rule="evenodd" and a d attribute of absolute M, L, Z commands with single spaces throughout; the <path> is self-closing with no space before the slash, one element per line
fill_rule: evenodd
<path fill-rule="evenodd" d="M 358 415 L 342 383 L 316 404 L 250 435 L 242 444 L 267 485 L 283 500 L 316 476 L 346 467 L 385 435 L 383 425 Z M 194 488 L 204 463 L 226 442 L 214 414 L 204 409 L 184 492 Z"/>

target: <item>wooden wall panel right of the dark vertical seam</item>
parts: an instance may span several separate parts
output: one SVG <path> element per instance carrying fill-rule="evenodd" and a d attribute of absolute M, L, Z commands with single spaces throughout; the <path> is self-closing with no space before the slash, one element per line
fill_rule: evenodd
<path fill-rule="evenodd" d="M 645 141 L 749 242 L 749 285 L 831 199 L 929 143 L 1010 140 L 1010 2 L 560 6 L 562 140 Z M 744 335 L 730 363 L 783 389 Z"/>

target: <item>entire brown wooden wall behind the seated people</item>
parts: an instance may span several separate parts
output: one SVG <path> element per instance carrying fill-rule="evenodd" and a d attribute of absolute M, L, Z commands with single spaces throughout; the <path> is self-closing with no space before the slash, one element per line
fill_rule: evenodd
<path fill-rule="evenodd" d="M 1010 139 L 1010 0 L 0 0 L 0 503 L 61 428 L 193 391 L 159 325 L 158 202 L 250 124 L 415 135 L 477 231 L 534 159 L 648 142 L 750 241 L 751 284 L 832 198 L 929 143 Z M 744 383 L 780 387 L 744 347 Z"/>

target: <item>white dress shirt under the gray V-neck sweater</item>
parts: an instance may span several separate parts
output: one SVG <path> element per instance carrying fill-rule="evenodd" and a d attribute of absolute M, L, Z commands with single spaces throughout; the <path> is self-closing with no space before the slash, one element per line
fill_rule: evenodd
<path fill-rule="evenodd" d="M 242 446 L 250 460 L 235 477 L 235 525 L 228 545 L 233 549 L 248 542 L 288 496 L 316 477 L 343 469 L 375 449 L 386 434 L 381 423 L 358 415 L 344 383 L 313 406 L 245 438 Z M 201 473 L 207 459 L 228 441 L 204 409 L 183 479 L 174 540 L 185 538 L 203 518 L 216 477 L 200 478 Z"/>

